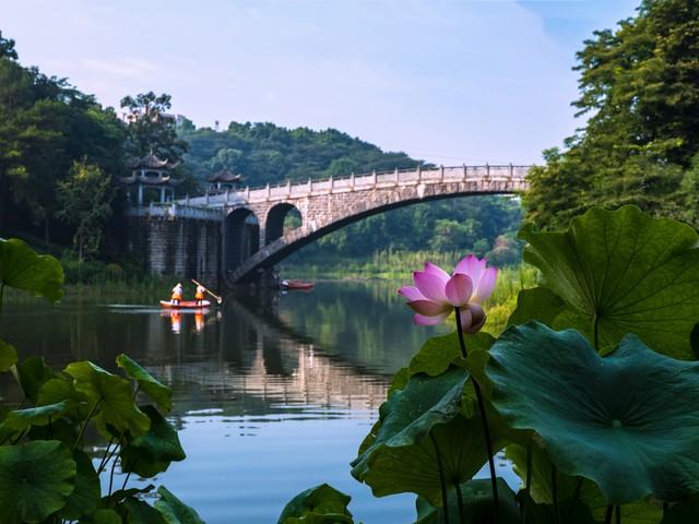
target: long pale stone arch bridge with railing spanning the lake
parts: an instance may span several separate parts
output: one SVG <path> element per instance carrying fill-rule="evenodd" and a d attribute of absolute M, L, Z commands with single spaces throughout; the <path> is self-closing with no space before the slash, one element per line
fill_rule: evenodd
<path fill-rule="evenodd" d="M 167 229 L 162 231 L 165 239 L 146 235 L 146 269 L 210 279 L 215 273 L 233 286 L 258 279 L 304 246 L 370 215 L 430 200 L 524 191 L 530 167 L 417 167 L 309 179 L 132 209 L 130 215 L 149 221 L 146 229 L 151 233 L 153 227 L 157 229 L 158 221 L 163 223 L 161 229 Z M 284 221 L 292 210 L 300 215 L 301 225 L 285 230 Z M 186 221 L 190 226 L 199 221 L 199 225 L 189 227 L 194 233 L 182 231 L 188 229 Z"/>

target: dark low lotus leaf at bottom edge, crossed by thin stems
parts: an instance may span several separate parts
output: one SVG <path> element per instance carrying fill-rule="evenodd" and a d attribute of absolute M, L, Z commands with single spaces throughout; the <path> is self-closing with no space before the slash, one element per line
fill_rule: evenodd
<path fill-rule="evenodd" d="M 498 477 L 498 522 L 500 524 L 521 524 L 520 508 L 514 499 L 514 492 L 507 483 Z M 459 522 L 459 499 L 454 489 L 449 491 L 449 519 Z M 494 522 L 493 487 L 490 479 L 467 480 L 461 484 L 461 500 L 463 501 L 464 522 Z M 415 524 L 442 524 L 445 522 L 443 508 L 436 508 L 429 501 L 417 498 L 417 521 Z M 540 524 L 540 521 L 533 521 Z"/>

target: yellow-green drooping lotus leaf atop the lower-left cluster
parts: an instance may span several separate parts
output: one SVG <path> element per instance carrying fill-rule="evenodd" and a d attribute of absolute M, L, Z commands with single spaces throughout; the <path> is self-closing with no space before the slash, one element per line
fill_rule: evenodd
<path fill-rule="evenodd" d="M 128 380 L 86 360 L 69 364 L 66 372 L 73 378 L 75 390 L 87 395 L 93 405 L 98 404 L 94 420 L 103 434 L 110 433 L 107 425 L 132 437 L 149 430 L 151 419 L 134 404 Z"/>

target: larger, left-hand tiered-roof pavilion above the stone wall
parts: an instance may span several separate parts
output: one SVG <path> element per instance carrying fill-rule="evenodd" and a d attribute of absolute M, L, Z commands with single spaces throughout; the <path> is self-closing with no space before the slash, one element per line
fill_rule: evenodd
<path fill-rule="evenodd" d="M 127 164 L 131 176 L 121 177 L 130 203 L 143 205 L 150 202 L 165 203 L 175 199 L 175 186 L 182 182 L 173 178 L 173 169 L 179 162 L 161 159 L 153 152 Z"/>

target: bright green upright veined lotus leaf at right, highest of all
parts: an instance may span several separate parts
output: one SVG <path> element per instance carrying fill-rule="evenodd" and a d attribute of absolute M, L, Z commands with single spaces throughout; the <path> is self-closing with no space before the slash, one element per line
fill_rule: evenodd
<path fill-rule="evenodd" d="M 626 333 L 653 349 L 691 359 L 689 334 L 699 319 L 699 235 L 688 225 L 653 218 L 638 207 L 592 209 L 562 233 L 520 230 L 524 260 L 540 269 L 542 286 L 567 305 L 574 327 L 611 352 Z"/>

